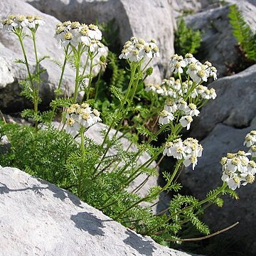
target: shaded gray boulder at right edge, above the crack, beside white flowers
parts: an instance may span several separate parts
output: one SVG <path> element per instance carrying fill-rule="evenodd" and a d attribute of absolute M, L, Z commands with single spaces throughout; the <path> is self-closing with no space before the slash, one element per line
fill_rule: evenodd
<path fill-rule="evenodd" d="M 199 115 L 191 136 L 198 139 L 207 134 L 218 123 L 232 127 L 248 127 L 256 116 L 256 65 L 226 78 L 220 78 L 209 87 L 215 88 L 217 97 L 210 100 Z"/>

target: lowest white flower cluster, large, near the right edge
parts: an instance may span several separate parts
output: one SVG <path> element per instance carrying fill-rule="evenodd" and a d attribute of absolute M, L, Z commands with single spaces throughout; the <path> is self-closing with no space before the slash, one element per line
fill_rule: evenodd
<path fill-rule="evenodd" d="M 227 182 L 228 187 L 232 190 L 240 188 L 241 184 L 245 186 L 247 183 L 255 181 L 256 163 L 249 160 L 247 156 L 250 156 L 250 153 L 238 151 L 237 154 L 228 153 L 220 161 L 223 166 L 221 179 Z"/>

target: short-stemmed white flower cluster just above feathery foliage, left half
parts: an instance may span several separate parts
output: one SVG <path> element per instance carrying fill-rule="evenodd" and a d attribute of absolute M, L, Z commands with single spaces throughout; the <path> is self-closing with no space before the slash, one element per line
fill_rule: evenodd
<path fill-rule="evenodd" d="M 87 103 L 70 105 L 66 112 L 66 132 L 73 137 L 79 133 L 81 127 L 88 128 L 101 121 L 100 112 L 91 110 Z"/>

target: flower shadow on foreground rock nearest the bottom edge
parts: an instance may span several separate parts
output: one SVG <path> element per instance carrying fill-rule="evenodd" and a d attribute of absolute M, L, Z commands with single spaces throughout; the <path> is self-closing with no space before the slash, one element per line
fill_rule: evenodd
<path fill-rule="evenodd" d="M 124 239 L 125 244 L 133 247 L 141 255 L 153 255 L 154 250 L 156 250 L 153 242 L 145 241 L 141 236 L 133 233 L 131 230 L 126 230 L 125 234 L 129 235 L 128 238 Z"/>

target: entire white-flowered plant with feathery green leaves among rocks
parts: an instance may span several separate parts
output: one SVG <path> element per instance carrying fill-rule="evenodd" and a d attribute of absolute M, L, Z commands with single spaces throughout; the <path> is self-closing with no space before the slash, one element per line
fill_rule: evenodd
<path fill-rule="evenodd" d="M 137 110 L 137 106 L 134 105 L 137 88 L 151 75 L 151 60 L 159 57 L 159 48 L 154 39 L 146 42 L 141 38 L 132 37 L 125 43 L 119 58 L 128 62 L 129 84 L 124 94 L 119 88 L 110 87 L 113 96 L 119 100 L 119 105 L 114 112 L 104 110 L 109 126 L 102 129 L 102 143 L 97 144 L 86 134 L 90 132 L 90 127 L 102 121 L 100 112 L 94 107 L 99 83 L 96 84 L 94 91 L 91 90 L 92 78 L 95 76 L 93 68 L 97 65 L 106 65 L 106 48 L 100 43 L 102 33 L 99 28 L 93 24 L 80 24 L 78 21 L 57 24 L 55 38 L 63 47 L 65 58 L 60 82 L 55 91 L 56 96 L 50 104 L 52 110 L 46 120 L 48 128 L 38 129 L 38 121 L 44 121 L 38 118 L 37 109 L 40 70 L 36 70 L 36 74 L 31 74 L 23 48 L 23 38 L 25 28 L 31 31 L 36 54 L 35 34 L 43 21 L 37 16 L 11 15 L 2 21 L 2 24 L 4 29 L 16 34 L 21 43 L 24 60 L 20 62 L 26 65 L 30 82 L 29 87 L 25 87 L 24 90 L 30 88 L 32 91 L 36 136 L 32 128 L 2 125 L 0 132 L 7 135 L 12 149 L 4 156 L 0 156 L 3 162 L 1 165 L 12 164 L 33 175 L 47 178 L 58 186 L 68 188 L 114 220 L 143 235 L 151 235 L 159 242 L 179 240 L 183 234 L 184 224 L 188 222 L 201 233 L 210 233 L 208 226 L 199 219 L 203 213 L 203 205 L 215 203 L 222 206 L 221 196 L 229 193 L 230 196 L 237 198 L 235 188 L 239 188 L 240 184 L 246 185 L 254 181 L 256 133 L 252 131 L 245 138 L 245 145 L 250 147 L 247 153 L 238 151 L 237 154 L 228 154 L 221 160 L 222 186 L 210 191 L 202 201 L 178 193 L 181 189 L 181 184 L 176 182 L 178 174 L 183 166 L 192 166 L 192 169 L 195 169 L 203 152 L 203 147 L 197 139 L 182 139 L 181 130 L 190 129 L 193 117 L 200 114 L 201 107 L 217 96 L 213 88 L 209 89 L 202 85 L 210 78 L 217 79 L 217 70 L 208 61 L 200 63 L 191 53 L 184 57 L 174 55 L 170 60 L 170 68 L 176 78 L 165 79 L 160 85 L 145 85 L 146 92 L 156 95 L 154 99 L 161 95 L 165 98 L 165 103 L 159 111 L 157 132 L 153 133 L 134 121 L 138 135 L 143 135 L 146 139 L 143 143 L 137 142 L 137 149 L 132 151 L 132 142 L 124 148 L 121 139 L 127 134 L 120 134 L 119 130 L 129 113 Z M 97 59 L 96 56 L 100 58 Z M 36 54 L 37 68 L 40 61 Z M 75 68 L 75 91 L 73 97 L 60 98 L 60 85 L 67 63 Z M 182 80 L 181 74 L 186 74 L 186 80 Z M 78 94 L 82 91 L 85 92 L 85 102 L 77 102 Z M 60 130 L 49 124 L 58 107 L 63 107 L 64 110 L 64 125 Z M 161 132 L 166 132 L 166 141 L 160 146 L 153 146 L 152 142 L 159 139 Z M 26 139 L 21 137 L 21 134 Z M 42 148 L 48 150 L 42 154 Z M 138 159 L 145 151 L 148 151 L 151 157 L 138 164 Z M 252 158 L 249 160 L 250 155 Z M 170 156 L 176 161 L 174 170 L 164 173 L 166 185 L 154 186 L 146 195 L 139 196 L 137 191 L 146 183 L 148 176 L 157 175 L 157 166 L 164 156 Z M 20 157 L 23 157 L 23 161 L 19 161 Z M 159 161 L 154 164 L 156 159 Z M 145 181 L 132 192 L 128 192 L 129 184 L 141 174 L 147 175 Z M 163 191 L 172 191 L 174 196 L 169 207 L 156 214 L 152 208 Z M 142 203 L 148 203 L 147 207 L 142 207 Z"/>

